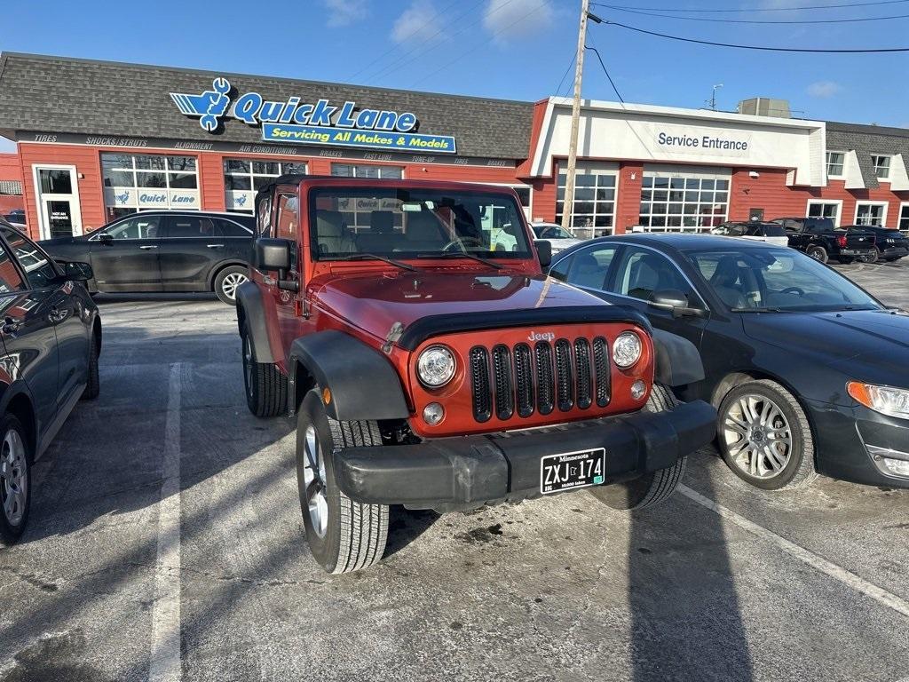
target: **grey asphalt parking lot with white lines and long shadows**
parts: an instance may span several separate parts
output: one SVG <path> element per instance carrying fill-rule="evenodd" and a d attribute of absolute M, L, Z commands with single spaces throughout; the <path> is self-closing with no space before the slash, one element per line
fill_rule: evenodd
<path fill-rule="evenodd" d="M 909 308 L 909 263 L 842 270 Z M 101 397 L 0 550 L 0 680 L 909 678 L 909 491 L 765 496 L 705 452 L 637 515 L 584 492 L 395 510 L 381 565 L 327 577 L 292 424 L 246 410 L 233 309 L 100 305 Z"/>

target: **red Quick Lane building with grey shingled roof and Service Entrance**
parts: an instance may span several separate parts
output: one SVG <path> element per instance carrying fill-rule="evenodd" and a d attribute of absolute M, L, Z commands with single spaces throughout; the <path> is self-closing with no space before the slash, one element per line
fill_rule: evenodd
<path fill-rule="evenodd" d="M 569 125 L 560 98 L 0 56 L 0 135 L 18 147 L 0 181 L 21 183 L 41 238 L 145 208 L 250 211 L 257 186 L 288 171 L 512 186 L 528 216 L 557 220 Z M 909 228 L 909 130 L 587 101 L 580 131 L 584 235 L 750 216 Z"/>

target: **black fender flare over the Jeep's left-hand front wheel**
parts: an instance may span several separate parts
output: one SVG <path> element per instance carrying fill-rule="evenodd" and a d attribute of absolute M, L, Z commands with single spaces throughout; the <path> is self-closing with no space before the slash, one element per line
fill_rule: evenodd
<path fill-rule="evenodd" d="M 334 329 L 300 336 L 287 359 L 288 399 L 296 406 L 297 369 L 303 366 L 315 384 L 331 393 L 328 416 L 338 421 L 406 419 L 410 410 L 391 361 L 373 347 Z M 325 400 L 323 400 L 325 402 Z"/>

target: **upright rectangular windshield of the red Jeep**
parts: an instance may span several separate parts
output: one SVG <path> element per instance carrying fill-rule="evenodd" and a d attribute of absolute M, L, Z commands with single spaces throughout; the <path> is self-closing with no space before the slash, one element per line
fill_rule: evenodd
<path fill-rule="evenodd" d="M 504 193 L 317 187 L 309 205 L 318 260 L 531 257 L 521 208 Z"/>

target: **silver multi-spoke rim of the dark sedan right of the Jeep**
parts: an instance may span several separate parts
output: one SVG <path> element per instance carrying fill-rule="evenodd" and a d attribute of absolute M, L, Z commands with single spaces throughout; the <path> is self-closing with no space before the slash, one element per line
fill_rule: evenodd
<path fill-rule="evenodd" d="M 778 476 L 793 452 L 792 429 L 783 411 L 770 398 L 754 393 L 729 406 L 723 437 L 735 466 L 755 478 Z"/>

